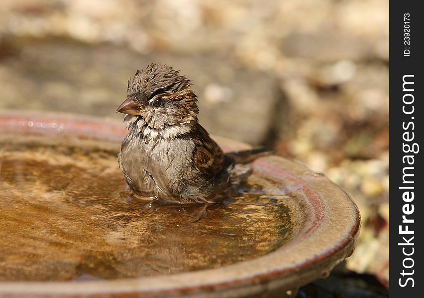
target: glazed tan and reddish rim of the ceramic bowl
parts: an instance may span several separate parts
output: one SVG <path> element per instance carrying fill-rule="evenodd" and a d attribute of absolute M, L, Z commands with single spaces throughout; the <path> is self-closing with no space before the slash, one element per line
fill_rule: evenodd
<path fill-rule="evenodd" d="M 124 125 L 117 120 L 33 111 L 0 111 L 0 133 L 65 135 L 120 142 Z M 247 145 L 214 138 L 226 149 Z M 224 145 L 224 147 L 225 147 Z M 296 290 L 326 277 L 348 257 L 359 235 L 360 215 L 350 197 L 323 174 L 279 156 L 254 162 L 261 176 L 282 184 L 291 181 L 307 200 L 305 224 L 274 252 L 217 269 L 147 278 L 83 282 L 0 282 L 0 296 L 233 297 L 283 289 Z M 288 292 L 290 294 L 290 292 Z"/>

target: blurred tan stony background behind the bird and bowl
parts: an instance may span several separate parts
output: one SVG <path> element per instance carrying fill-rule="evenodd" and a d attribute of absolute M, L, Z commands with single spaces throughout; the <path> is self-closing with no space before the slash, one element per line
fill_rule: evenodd
<path fill-rule="evenodd" d="M 388 11 L 386 0 L 2 0 L 0 109 L 121 119 L 128 78 L 171 64 L 193 79 L 212 134 L 272 146 L 358 204 L 355 253 L 300 297 L 384 297 Z"/>

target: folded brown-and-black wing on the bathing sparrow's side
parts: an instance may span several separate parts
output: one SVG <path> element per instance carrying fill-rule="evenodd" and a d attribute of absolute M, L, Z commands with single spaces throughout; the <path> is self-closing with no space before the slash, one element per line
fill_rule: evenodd
<path fill-rule="evenodd" d="M 194 139 L 193 165 L 208 181 L 222 169 L 224 154 L 203 127 L 198 132 L 199 135 Z"/>

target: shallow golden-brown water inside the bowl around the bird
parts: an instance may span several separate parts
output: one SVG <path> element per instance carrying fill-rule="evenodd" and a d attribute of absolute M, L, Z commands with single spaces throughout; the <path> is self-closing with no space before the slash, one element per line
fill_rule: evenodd
<path fill-rule="evenodd" d="M 285 197 L 258 191 L 234 191 L 199 222 L 201 207 L 145 209 L 123 195 L 117 148 L 71 144 L 0 140 L 0 281 L 216 268 L 269 253 L 291 234 Z"/>

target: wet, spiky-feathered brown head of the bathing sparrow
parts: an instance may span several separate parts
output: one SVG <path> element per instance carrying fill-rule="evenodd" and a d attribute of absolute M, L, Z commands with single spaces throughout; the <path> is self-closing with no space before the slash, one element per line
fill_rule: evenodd
<path fill-rule="evenodd" d="M 152 63 L 128 81 L 127 99 L 116 112 L 142 117 L 150 128 L 161 130 L 197 122 L 199 108 L 188 78 Z"/>

